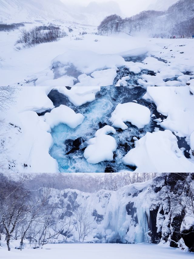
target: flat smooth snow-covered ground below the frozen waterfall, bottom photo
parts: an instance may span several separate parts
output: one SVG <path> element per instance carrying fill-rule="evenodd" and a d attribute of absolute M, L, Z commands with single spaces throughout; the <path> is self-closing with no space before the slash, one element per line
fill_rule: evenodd
<path fill-rule="evenodd" d="M 193 254 L 182 252 L 178 249 L 154 245 L 154 244 L 47 244 L 43 248 L 15 250 L 12 246 L 11 251 L 6 247 L 0 249 L 3 259 L 33 259 L 33 258 L 61 258 L 71 257 L 72 259 L 99 259 L 99 258 L 125 258 L 135 259 L 185 259 L 192 258 Z"/>

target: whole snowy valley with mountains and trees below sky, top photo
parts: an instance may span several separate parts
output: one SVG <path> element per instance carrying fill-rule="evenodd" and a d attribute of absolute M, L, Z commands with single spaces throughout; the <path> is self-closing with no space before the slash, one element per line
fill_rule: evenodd
<path fill-rule="evenodd" d="M 13 1 L 13 5 L 8 5 L 5 0 L 1 0 L 1 9 L 5 10 L 2 13 L 2 23 L 22 22 L 23 27 L 0 32 L 0 85 L 193 85 L 194 51 L 192 30 L 189 29 L 193 19 L 189 6 L 192 7 L 193 3 L 190 3 L 190 0 L 185 1 L 188 3 L 183 0 L 178 2 L 181 8 L 182 4 L 185 6 L 182 11 L 176 3 L 165 13 L 145 11 L 125 19 L 118 16 L 118 6 L 109 3 L 97 6 L 97 3 L 93 3 L 82 11 L 87 17 L 91 18 L 93 15 L 99 18 L 95 12 L 101 12 L 99 10 L 103 8 L 106 12 L 93 26 L 90 21 L 80 20 L 79 15 L 75 15 L 76 9 L 72 15 L 72 9 L 65 8 L 60 1 L 56 2 L 54 7 L 52 1 L 47 5 L 42 2 L 40 8 L 45 11 L 42 13 L 49 12 L 49 19 L 48 16 L 40 17 L 37 13 L 38 4 L 35 0 L 28 3 L 31 4 L 28 8 L 23 2 Z M 109 6 L 112 6 L 112 9 Z M 20 19 L 11 20 L 7 15 L 7 12 L 13 13 L 12 8 L 20 11 L 15 13 Z M 91 9 L 96 11 L 92 12 Z M 29 10 L 34 13 L 29 13 Z M 55 12 L 59 16 L 58 20 L 53 17 Z M 108 22 L 103 20 L 114 12 L 117 13 L 115 18 L 108 16 Z M 176 17 L 180 18 L 181 24 L 177 22 Z M 96 21 L 94 17 L 91 20 Z M 28 42 L 26 34 L 32 34 L 32 29 L 37 28 L 38 32 L 33 32 L 35 34 L 47 32 L 46 26 L 51 24 L 58 28 L 58 33 L 63 36 L 57 36 L 53 42 L 47 42 L 45 39 Z M 45 26 L 45 29 L 40 29 L 40 26 Z M 174 35 L 178 39 L 170 39 Z"/>

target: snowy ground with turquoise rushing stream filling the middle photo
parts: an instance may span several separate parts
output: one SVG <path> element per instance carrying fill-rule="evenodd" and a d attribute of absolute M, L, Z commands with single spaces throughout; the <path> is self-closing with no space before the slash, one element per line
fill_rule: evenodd
<path fill-rule="evenodd" d="M 1 111 L 2 171 L 194 172 L 193 87 L 52 89 L 22 87 Z"/>

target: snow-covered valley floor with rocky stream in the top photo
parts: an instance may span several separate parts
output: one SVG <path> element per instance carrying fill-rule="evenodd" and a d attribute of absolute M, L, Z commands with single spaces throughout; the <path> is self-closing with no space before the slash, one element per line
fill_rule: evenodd
<path fill-rule="evenodd" d="M 125 33 L 100 36 L 95 26 L 55 24 L 68 36 L 25 49 L 21 43 L 15 46 L 19 30 L 0 32 L 0 85 L 146 87 L 194 82 L 193 39 L 132 37 Z M 25 24 L 25 28 L 38 25 L 42 23 Z"/>

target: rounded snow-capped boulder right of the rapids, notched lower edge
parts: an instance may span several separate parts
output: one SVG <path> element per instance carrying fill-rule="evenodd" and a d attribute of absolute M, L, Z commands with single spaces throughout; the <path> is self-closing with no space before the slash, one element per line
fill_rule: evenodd
<path fill-rule="evenodd" d="M 127 129 L 126 121 L 131 122 L 137 128 L 143 128 L 150 122 L 151 112 L 149 108 L 137 103 L 118 104 L 112 112 L 110 122 L 113 127 Z"/>

